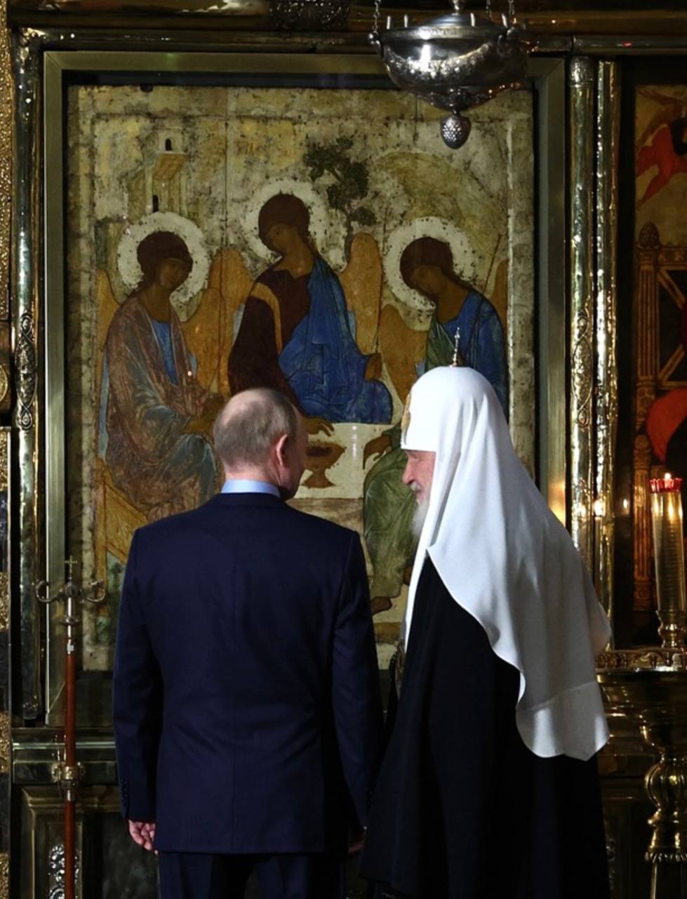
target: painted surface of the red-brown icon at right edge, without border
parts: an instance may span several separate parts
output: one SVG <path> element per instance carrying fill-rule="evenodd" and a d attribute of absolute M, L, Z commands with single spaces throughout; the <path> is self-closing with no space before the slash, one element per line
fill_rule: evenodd
<path fill-rule="evenodd" d="M 687 87 L 638 87 L 635 135 L 633 600 L 641 616 L 655 604 L 648 478 L 687 476 Z"/>

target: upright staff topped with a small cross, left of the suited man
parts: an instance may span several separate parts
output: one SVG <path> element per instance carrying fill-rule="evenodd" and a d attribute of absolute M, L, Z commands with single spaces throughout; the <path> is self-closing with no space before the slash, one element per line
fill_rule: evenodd
<path fill-rule="evenodd" d="M 66 582 L 53 596 L 47 581 L 36 584 L 36 597 L 39 602 L 49 605 L 52 602 L 65 603 L 66 625 L 65 645 L 65 752 L 64 758 L 56 766 L 56 777 L 62 794 L 65 797 L 65 899 L 75 899 L 76 870 L 76 792 L 79 786 L 79 766 L 76 761 L 76 641 L 75 630 L 79 623 L 76 617 L 76 606 L 79 602 L 100 605 L 105 600 L 106 590 L 102 581 L 94 581 L 86 588 L 78 587 L 74 582 L 76 560 L 69 556 L 65 562 Z"/>

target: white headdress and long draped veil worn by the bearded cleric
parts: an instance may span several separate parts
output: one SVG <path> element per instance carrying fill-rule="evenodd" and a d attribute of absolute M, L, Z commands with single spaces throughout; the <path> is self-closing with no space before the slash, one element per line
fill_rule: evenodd
<path fill-rule="evenodd" d="M 403 449 L 436 452 L 436 462 L 406 642 L 428 555 L 494 652 L 519 670 L 525 745 L 545 758 L 590 758 L 608 740 L 595 655 L 611 628 L 568 531 L 515 455 L 496 394 L 473 369 L 432 369 L 407 414 Z"/>

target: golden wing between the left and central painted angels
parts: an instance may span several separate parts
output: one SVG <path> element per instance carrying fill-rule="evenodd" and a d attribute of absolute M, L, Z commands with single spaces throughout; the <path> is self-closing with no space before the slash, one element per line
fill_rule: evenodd
<path fill-rule="evenodd" d="M 182 325 L 189 351 L 198 360 L 198 382 L 229 396 L 227 360 L 233 318 L 251 291 L 251 276 L 238 250 L 220 250 L 210 267 L 207 289 L 196 312 Z"/>

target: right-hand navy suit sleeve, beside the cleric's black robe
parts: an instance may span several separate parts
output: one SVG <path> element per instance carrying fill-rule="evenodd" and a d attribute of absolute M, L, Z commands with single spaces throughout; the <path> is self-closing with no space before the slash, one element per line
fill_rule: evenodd
<path fill-rule="evenodd" d="M 332 705 L 348 792 L 365 826 L 381 752 L 382 702 L 365 557 L 357 535 L 351 539 L 339 593 Z"/>

